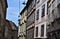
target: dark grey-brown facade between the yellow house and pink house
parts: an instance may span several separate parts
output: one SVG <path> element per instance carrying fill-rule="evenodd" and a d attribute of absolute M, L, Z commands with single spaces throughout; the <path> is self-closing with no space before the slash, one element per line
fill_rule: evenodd
<path fill-rule="evenodd" d="M 27 26 L 26 32 L 27 37 L 26 39 L 34 39 L 34 27 L 35 27 L 35 0 L 28 0 L 27 2 Z"/>

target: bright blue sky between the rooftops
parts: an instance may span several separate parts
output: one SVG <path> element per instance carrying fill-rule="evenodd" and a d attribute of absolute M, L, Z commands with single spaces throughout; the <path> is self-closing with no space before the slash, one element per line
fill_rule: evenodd
<path fill-rule="evenodd" d="M 20 1 L 20 4 L 19 4 Z M 8 8 L 7 8 L 7 16 L 6 19 L 13 21 L 18 26 L 18 16 L 22 11 L 25 5 L 22 3 L 27 0 L 7 0 Z M 20 8 L 19 8 L 20 7 Z"/>

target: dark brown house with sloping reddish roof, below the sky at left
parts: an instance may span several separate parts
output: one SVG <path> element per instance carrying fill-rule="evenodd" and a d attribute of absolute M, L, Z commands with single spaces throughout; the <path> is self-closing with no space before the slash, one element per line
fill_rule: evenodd
<path fill-rule="evenodd" d="M 4 39 L 18 39 L 18 27 L 9 20 L 5 20 Z"/>

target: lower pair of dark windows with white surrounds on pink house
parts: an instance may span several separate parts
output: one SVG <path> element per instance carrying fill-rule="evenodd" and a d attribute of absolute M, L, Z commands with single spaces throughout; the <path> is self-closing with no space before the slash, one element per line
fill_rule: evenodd
<path fill-rule="evenodd" d="M 46 24 L 41 24 L 35 27 L 34 38 L 47 38 Z"/>

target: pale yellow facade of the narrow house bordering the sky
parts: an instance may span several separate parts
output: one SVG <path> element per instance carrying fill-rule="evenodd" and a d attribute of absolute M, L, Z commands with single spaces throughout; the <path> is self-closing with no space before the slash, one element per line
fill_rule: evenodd
<path fill-rule="evenodd" d="M 24 21 L 26 21 L 27 18 L 26 14 L 27 14 L 27 10 L 25 9 L 25 11 L 21 15 L 20 23 L 23 24 L 20 26 L 20 34 L 22 34 L 22 37 L 19 37 L 19 39 L 25 39 L 24 35 L 26 35 L 26 23 Z"/>

